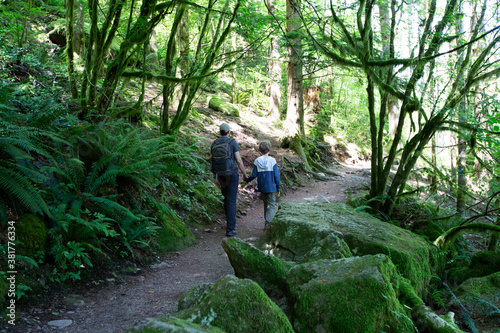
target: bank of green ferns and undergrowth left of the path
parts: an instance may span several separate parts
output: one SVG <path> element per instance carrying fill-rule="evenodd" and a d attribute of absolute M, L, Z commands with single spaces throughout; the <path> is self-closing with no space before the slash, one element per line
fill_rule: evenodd
<path fill-rule="evenodd" d="M 0 169 L 11 170 L 0 172 L 0 252 L 10 223 L 24 291 L 190 246 L 190 229 L 212 223 L 220 208 L 196 138 L 124 121 L 52 119 L 33 132 L 19 120 L 0 113 Z"/>

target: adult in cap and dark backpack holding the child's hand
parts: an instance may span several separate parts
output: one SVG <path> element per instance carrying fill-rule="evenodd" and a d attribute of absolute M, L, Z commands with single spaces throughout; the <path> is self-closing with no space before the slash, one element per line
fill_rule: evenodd
<path fill-rule="evenodd" d="M 233 138 L 229 137 L 231 127 L 229 124 L 220 125 L 220 138 L 215 140 L 210 147 L 211 171 L 215 184 L 220 187 L 224 196 L 224 211 L 226 213 L 226 236 L 238 234 L 236 231 L 236 200 L 238 184 L 240 181 L 238 169 L 245 178 L 245 166 L 240 156 L 240 147 Z"/>

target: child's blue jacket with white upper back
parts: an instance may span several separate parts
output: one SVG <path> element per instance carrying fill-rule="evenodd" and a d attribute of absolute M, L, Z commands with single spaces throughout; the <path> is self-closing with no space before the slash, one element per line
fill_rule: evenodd
<path fill-rule="evenodd" d="M 273 193 L 280 191 L 280 172 L 276 160 L 271 156 L 258 157 L 253 162 L 253 170 L 250 177 L 244 181 L 251 182 L 257 178 L 257 190 L 262 193 Z"/>

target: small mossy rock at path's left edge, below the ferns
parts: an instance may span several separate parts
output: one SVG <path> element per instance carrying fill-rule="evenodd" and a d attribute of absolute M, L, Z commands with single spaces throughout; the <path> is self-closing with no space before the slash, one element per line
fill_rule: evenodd
<path fill-rule="evenodd" d="M 193 233 L 169 207 L 161 206 L 157 220 L 160 221 L 160 228 L 156 242 L 160 253 L 180 250 L 195 243 Z"/>

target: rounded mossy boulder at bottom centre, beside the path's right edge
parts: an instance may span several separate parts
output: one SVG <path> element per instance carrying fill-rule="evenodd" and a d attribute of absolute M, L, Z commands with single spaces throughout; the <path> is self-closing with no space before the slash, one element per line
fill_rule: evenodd
<path fill-rule="evenodd" d="M 220 278 L 202 299 L 174 315 L 232 333 L 293 332 L 286 315 L 257 283 L 234 275 Z"/>

